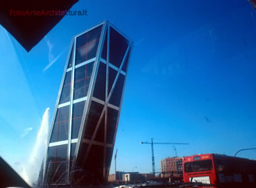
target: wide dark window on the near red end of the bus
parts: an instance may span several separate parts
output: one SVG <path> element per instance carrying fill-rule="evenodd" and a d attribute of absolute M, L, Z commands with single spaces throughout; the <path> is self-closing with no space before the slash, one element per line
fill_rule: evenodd
<path fill-rule="evenodd" d="M 185 173 L 212 171 L 212 160 L 198 160 L 184 164 Z"/>

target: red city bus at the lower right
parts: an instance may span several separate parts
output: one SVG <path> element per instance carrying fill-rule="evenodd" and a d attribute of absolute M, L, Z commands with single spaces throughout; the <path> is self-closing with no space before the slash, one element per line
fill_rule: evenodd
<path fill-rule="evenodd" d="M 220 187 L 256 187 L 256 160 L 221 154 L 186 156 L 183 179 Z"/>

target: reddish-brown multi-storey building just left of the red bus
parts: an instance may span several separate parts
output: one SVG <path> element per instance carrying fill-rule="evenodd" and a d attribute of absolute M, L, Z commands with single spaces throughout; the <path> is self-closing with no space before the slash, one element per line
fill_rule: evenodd
<path fill-rule="evenodd" d="M 164 158 L 160 165 L 161 177 L 181 176 L 183 174 L 183 158 Z"/>

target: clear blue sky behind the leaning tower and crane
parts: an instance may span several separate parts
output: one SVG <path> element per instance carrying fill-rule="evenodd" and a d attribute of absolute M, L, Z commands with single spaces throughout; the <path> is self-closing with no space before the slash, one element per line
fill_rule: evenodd
<path fill-rule="evenodd" d="M 117 170 L 152 172 L 150 145 L 139 144 L 151 138 L 188 142 L 176 146 L 178 156 L 256 147 L 256 11 L 248 1 L 81 0 L 71 10 L 82 9 L 87 16 L 65 16 L 29 53 L 0 26 L 0 155 L 13 167 L 27 158 L 47 107 L 52 118 L 71 37 L 105 19 L 134 41 Z M 154 149 L 160 171 L 175 152 Z M 256 160 L 256 150 L 238 156 Z"/>

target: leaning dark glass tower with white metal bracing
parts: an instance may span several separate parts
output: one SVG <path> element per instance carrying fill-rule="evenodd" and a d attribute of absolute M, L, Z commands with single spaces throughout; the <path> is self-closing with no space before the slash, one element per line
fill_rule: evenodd
<path fill-rule="evenodd" d="M 49 134 L 44 185 L 107 181 L 131 47 L 108 21 L 73 37 Z"/>

